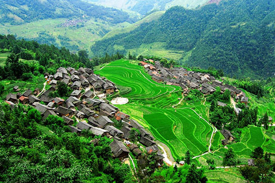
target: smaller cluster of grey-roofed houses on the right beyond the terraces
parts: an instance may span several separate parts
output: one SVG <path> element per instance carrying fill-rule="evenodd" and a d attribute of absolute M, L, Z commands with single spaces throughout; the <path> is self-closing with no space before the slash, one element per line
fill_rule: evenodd
<path fill-rule="evenodd" d="M 235 86 L 229 84 L 223 84 L 222 81 L 217 80 L 214 76 L 201 72 L 188 71 L 183 67 L 162 67 L 160 62 L 154 61 L 154 65 L 141 61 L 140 64 L 151 75 L 152 79 L 157 82 L 164 82 L 168 85 L 180 86 L 184 90 L 184 95 L 187 96 L 189 88 L 198 89 L 204 95 L 213 94 L 216 91 L 216 87 L 221 88 L 221 93 L 224 93 L 228 89 L 232 97 L 236 97 L 236 100 L 240 100 L 242 103 L 248 102 L 248 98 L 245 94 L 237 89 Z"/>

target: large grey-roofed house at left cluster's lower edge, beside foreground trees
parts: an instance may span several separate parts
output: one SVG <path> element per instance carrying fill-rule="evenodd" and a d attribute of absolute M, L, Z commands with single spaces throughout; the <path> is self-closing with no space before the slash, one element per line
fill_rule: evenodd
<path fill-rule="evenodd" d="M 129 155 L 130 151 L 121 141 L 114 139 L 114 141 L 110 144 L 110 147 L 116 158 L 124 159 Z"/>

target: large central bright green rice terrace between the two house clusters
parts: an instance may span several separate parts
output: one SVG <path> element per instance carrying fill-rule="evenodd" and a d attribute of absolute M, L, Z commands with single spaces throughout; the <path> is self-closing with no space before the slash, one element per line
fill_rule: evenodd
<path fill-rule="evenodd" d="M 183 156 L 188 149 L 194 155 L 208 150 L 212 127 L 191 109 L 171 108 L 181 97 L 180 87 L 157 83 L 141 66 L 125 60 L 111 62 L 96 73 L 132 88 L 123 95 L 131 103 L 118 107 L 165 143 L 174 157 Z"/>

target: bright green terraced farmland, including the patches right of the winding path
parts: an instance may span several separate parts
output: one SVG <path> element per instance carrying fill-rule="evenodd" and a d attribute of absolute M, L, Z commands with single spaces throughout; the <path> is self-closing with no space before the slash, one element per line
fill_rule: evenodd
<path fill-rule="evenodd" d="M 95 72 L 119 86 L 131 88 L 121 94 L 129 99 L 129 103 L 117 107 L 148 129 L 156 140 L 166 144 L 174 158 L 181 158 L 187 150 L 194 156 L 208 151 L 213 128 L 202 119 L 209 120 L 209 103 L 205 99 L 184 101 L 172 108 L 181 98 L 180 88 L 155 82 L 135 61 L 114 61 L 97 67 Z M 198 157 L 199 162 L 204 164 L 206 159 L 212 158 L 221 165 L 226 152 L 222 139 L 220 132 L 215 133 L 211 147 L 214 153 Z M 227 145 L 236 151 L 241 163 L 257 146 L 275 152 L 274 141 L 263 133 L 262 128 L 252 126 L 243 129 L 240 142 Z"/>

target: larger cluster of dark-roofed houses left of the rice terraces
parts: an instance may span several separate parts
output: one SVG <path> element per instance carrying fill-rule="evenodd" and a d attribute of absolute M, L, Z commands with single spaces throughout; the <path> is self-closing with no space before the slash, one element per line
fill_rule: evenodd
<path fill-rule="evenodd" d="M 140 132 L 139 142 L 144 145 L 147 153 L 156 152 L 159 165 L 162 164 L 161 155 L 153 137 L 141 126 L 137 121 L 130 119 L 119 111 L 119 109 L 108 101 L 96 99 L 97 94 L 112 94 L 116 89 L 113 82 L 94 74 L 93 70 L 88 68 L 58 68 L 54 75 L 45 74 L 45 79 L 50 88 L 44 93 L 36 95 L 32 90 L 28 89 L 23 94 L 10 93 L 6 102 L 12 107 L 16 104 L 31 105 L 37 109 L 42 119 L 46 119 L 49 115 L 59 116 L 64 119 L 66 125 L 69 126 L 71 132 L 81 134 L 82 130 L 91 132 L 94 136 L 106 136 L 113 139 L 110 144 L 113 156 L 121 160 L 128 157 L 132 152 L 137 159 L 144 152 L 134 143 L 131 143 L 131 129 L 138 129 Z M 58 97 L 51 97 L 51 92 L 56 90 L 57 81 L 66 83 L 73 92 L 64 100 Z M 91 90 L 93 88 L 93 91 Z M 19 87 L 15 87 L 14 91 L 18 92 Z M 75 117 L 77 124 L 73 120 Z M 118 129 L 114 126 L 114 120 L 121 121 L 123 127 Z M 93 142 L 96 144 L 97 142 Z M 144 151 L 146 151 L 144 148 Z"/>

